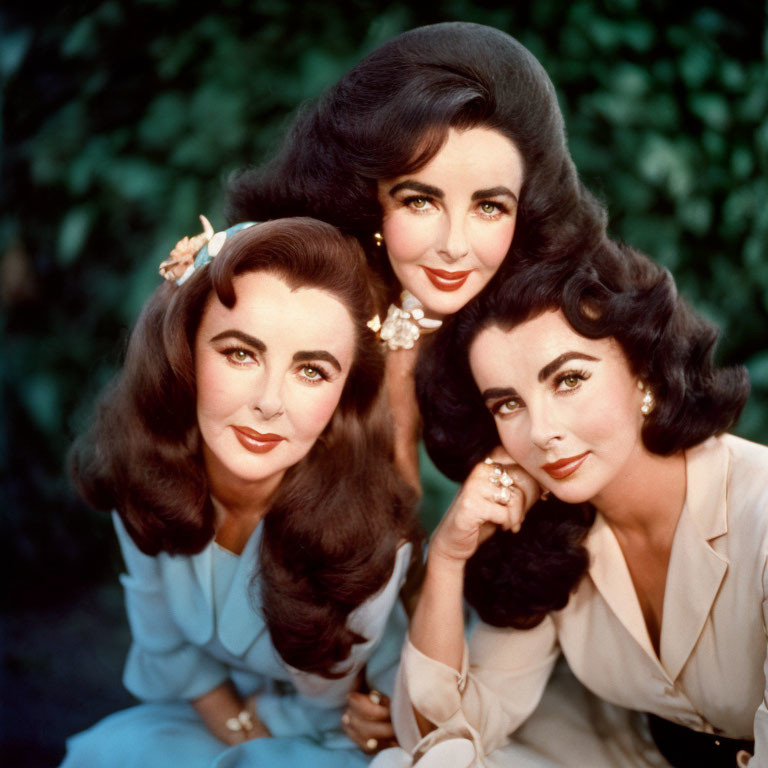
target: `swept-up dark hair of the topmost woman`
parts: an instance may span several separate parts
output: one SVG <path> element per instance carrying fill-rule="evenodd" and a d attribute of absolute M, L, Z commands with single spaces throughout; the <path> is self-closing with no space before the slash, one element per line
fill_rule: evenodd
<path fill-rule="evenodd" d="M 466 22 L 413 29 L 360 61 L 300 111 L 271 162 L 231 179 L 229 217 L 331 222 L 360 239 L 391 290 L 385 249 L 372 240 L 382 220 L 377 182 L 422 168 L 450 128 L 474 127 L 499 131 L 523 158 L 506 262 L 599 245 L 605 212 L 579 181 L 549 77 L 513 37 Z"/>

